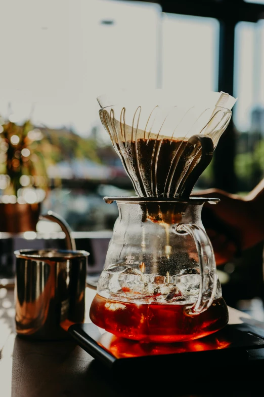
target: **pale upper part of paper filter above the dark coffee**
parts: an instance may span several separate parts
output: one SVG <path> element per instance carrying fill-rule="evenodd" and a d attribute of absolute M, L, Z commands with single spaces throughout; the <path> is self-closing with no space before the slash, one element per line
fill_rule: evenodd
<path fill-rule="evenodd" d="M 118 137 L 126 141 L 207 135 L 217 124 L 225 124 L 237 100 L 224 92 L 177 94 L 165 90 L 123 90 L 97 99 L 105 109 L 110 127 L 116 129 L 117 133 L 112 136 L 115 141 Z M 215 136 L 212 139 L 216 144 L 218 139 Z"/>

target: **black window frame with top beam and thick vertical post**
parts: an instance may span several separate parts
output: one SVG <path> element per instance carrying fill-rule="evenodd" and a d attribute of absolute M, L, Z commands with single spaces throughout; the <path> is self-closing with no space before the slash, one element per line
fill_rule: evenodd
<path fill-rule="evenodd" d="M 244 0 L 144 1 L 159 4 L 164 13 L 215 18 L 219 21 L 218 91 L 233 95 L 236 25 L 241 21 L 257 22 L 264 19 L 264 4 L 246 3 Z M 237 192 L 235 155 L 236 132 L 231 121 L 214 153 L 213 187 L 230 193 Z"/>

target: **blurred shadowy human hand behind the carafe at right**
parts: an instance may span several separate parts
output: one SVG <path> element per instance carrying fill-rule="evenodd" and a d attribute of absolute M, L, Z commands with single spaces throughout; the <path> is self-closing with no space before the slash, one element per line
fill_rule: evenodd
<path fill-rule="evenodd" d="M 216 265 L 230 261 L 238 252 L 263 239 L 263 210 L 250 195 L 241 197 L 219 189 L 198 191 L 192 196 L 219 198 L 217 204 L 205 203 L 202 222 L 211 240 Z"/>

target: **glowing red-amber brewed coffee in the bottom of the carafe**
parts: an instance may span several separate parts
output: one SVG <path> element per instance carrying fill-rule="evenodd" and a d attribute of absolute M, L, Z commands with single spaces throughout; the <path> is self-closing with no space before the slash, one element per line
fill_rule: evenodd
<path fill-rule="evenodd" d="M 135 304 L 103 298 L 97 294 L 90 318 L 98 327 L 123 338 L 144 342 L 180 342 L 202 338 L 228 323 L 223 298 L 215 299 L 199 315 L 190 316 L 188 305 Z"/>

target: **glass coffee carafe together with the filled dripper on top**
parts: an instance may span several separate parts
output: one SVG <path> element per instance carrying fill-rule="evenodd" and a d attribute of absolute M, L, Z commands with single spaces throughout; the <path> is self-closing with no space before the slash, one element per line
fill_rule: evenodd
<path fill-rule="evenodd" d="M 196 104 L 167 106 L 160 95 L 126 95 L 117 104 L 99 98 L 101 121 L 137 196 L 104 198 L 117 203 L 119 218 L 90 318 L 119 337 L 178 342 L 216 332 L 229 320 L 201 222 L 204 202 L 218 199 L 191 193 L 235 99 L 210 93 L 192 98 Z"/>

